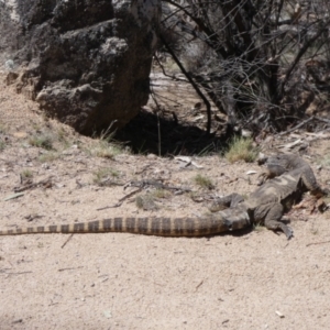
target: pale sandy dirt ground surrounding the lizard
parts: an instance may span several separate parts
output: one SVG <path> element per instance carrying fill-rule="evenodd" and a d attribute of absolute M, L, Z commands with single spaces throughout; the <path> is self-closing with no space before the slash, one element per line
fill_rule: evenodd
<path fill-rule="evenodd" d="M 199 216 L 215 196 L 256 188 L 257 164 L 191 155 L 189 165 L 105 151 L 102 141 L 45 120 L 35 103 L 14 94 L 2 76 L 0 81 L 1 229 L 117 216 Z M 54 142 L 50 151 L 37 146 L 44 135 Z M 300 148 L 329 188 L 327 133 L 294 132 L 263 147 L 284 151 L 295 142 L 294 151 Z M 215 189 L 197 185 L 198 174 Z M 136 187 L 123 186 L 143 179 L 178 189 L 157 196 L 157 209 L 143 210 L 135 197 L 147 191 L 130 197 Z M 31 183 L 38 185 L 26 188 Z M 200 198 L 193 200 L 183 188 Z M 329 215 L 293 212 L 290 241 L 264 228 L 199 239 L 1 237 L 0 329 L 329 329 Z"/>

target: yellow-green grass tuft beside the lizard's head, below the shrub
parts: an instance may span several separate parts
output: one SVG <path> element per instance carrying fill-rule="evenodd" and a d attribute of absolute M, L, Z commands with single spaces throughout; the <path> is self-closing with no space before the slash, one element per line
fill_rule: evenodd
<path fill-rule="evenodd" d="M 252 163 L 257 157 L 257 148 L 253 145 L 252 139 L 245 138 L 233 138 L 229 145 L 229 150 L 224 153 L 224 157 L 230 162 L 234 163 L 238 161 L 245 161 Z"/>

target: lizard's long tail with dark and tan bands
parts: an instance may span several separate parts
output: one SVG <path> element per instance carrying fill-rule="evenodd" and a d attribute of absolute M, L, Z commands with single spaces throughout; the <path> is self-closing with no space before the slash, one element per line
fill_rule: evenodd
<path fill-rule="evenodd" d="M 38 226 L 0 230 L 0 235 L 36 234 L 36 233 L 101 233 L 127 232 L 158 237 L 204 237 L 229 231 L 232 222 L 219 212 L 204 218 L 111 218 L 91 222 L 72 224 Z M 244 228 L 244 217 L 239 219 Z M 238 223 L 237 223 L 238 224 Z M 234 226 L 238 229 L 238 226 Z"/>

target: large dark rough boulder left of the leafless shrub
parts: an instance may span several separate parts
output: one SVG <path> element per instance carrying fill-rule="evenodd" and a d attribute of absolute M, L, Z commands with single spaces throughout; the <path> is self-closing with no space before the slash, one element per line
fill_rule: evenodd
<path fill-rule="evenodd" d="M 8 82 L 81 133 L 122 127 L 148 98 L 161 0 L 1 0 Z"/>

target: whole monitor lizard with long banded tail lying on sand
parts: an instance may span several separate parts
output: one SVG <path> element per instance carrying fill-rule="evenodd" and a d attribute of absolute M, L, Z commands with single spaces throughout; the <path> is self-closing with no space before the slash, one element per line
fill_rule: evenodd
<path fill-rule="evenodd" d="M 200 218 L 118 217 L 70 224 L 35 226 L 0 230 L 0 235 L 35 233 L 100 233 L 129 232 L 161 237 L 204 237 L 264 223 L 280 229 L 290 239 L 293 230 L 282 222 L 307 190 L 317 197 L 326 194 L 317 184 L 312 169 L 302 158 L 279 154 L 266 161 L 265 179 L 268 179 L 244 200 L 239 194 L 217 199 L 210 207 L 213 213 Z"/>

